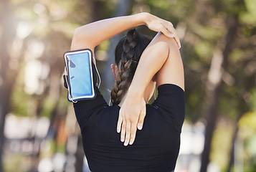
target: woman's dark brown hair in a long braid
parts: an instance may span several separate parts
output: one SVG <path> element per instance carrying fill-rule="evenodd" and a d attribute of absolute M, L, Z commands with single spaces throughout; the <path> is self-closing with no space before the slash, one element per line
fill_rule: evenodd
<path fill-rule="evenodd" d="M 131 29 L 126 36 L 120 39 L 115 48 L 115 64 L 118 73 L 111 91 L 111 102 L 118 105 L 128 87 L 131 85 L 141 54 L 146 49 L 151 39 L 139 34 L 136 29 Z"/>

